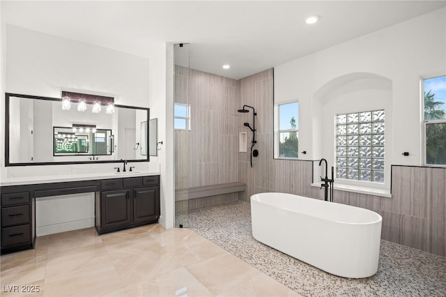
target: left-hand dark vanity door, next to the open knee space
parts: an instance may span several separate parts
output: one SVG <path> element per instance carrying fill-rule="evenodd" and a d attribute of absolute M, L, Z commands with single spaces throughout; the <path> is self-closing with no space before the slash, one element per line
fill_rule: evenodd
<path fill-rule="evenodd" d="M 101 193 L 102 228 L 119 227 L 132 222 L 130 190 Z"/>

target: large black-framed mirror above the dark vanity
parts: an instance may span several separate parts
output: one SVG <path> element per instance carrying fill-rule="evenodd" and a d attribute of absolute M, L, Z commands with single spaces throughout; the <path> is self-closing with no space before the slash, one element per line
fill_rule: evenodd
<path fill-rule="evenodd" d="M 63 110 L 61 98 L 5 98 L 6 166 L 149 160 L 148 108 L 114 105 L 112 113 L 94 113 L 78 103 Z"/>

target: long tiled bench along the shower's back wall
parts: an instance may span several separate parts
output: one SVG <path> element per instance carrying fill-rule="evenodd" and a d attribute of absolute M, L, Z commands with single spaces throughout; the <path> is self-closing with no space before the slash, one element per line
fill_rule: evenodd
<path fill-rule="evenodd" d="M 175 190 L 176 211 L 187 211 L 238 199 L 238 192 L 246 190 L 246 183 L 218 183 Z"/>

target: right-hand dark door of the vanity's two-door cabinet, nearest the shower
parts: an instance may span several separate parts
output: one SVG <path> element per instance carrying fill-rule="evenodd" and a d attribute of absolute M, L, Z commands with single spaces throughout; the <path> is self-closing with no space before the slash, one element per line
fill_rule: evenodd
<path fill-rule="evenodd" d="M 160 217 L 160 188 L 136 188 L 133 192 L 133 222 L 146 222 Z"/>

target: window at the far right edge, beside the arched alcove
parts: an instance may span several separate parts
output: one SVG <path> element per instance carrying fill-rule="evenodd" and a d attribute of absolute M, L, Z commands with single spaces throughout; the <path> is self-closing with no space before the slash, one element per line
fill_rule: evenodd
<path fill-rule="evenodd" d="M 424 165 L 446 166 L 446 75 L 422 86 Z"/>

